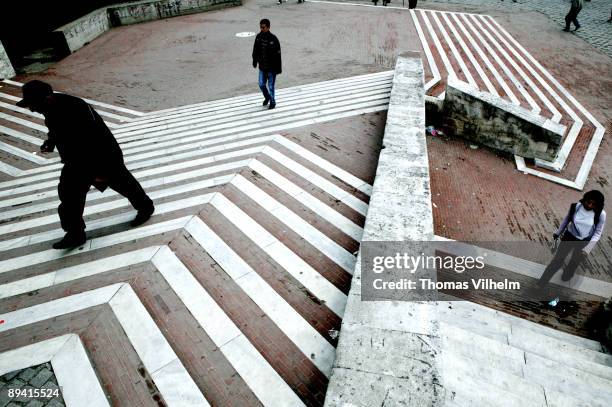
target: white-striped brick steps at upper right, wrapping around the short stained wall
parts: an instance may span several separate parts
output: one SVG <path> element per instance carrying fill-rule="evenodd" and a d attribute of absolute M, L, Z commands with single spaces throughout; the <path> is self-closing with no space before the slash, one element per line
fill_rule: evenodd
<path fill-rule="evenodd" d="M 410 10 L 410 16 L 427 60 L 426 78 L 431 78 L 425 84 L 426 91 L 440 96 L 440 85 L 447 77 L 454 77 L 565 125 L 567 132 L 556 159 L 537 159 L 536 164 L 561 172 L 571 154 L 580 157 L 579 168 L 560 176 L 527 166 L 518 156 L 516 166 L 521 172 L 548 181 L 575 189 L 584 187 L 605 128 L 559 80 L 492 16 L 427 9 Z M 594 134 L 588 136 L 586 151 L 576 151 L 579 136 L 587 137 L 587 127 L 594 128 Z"/>

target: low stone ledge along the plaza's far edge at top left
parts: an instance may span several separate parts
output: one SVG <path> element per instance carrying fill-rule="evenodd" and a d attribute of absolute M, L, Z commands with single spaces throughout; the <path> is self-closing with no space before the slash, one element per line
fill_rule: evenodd
<path fill-rule="evenodd" d="M 70 54 L 112 27 L 239 6 L 242 0 L 147 0 L 100 8 L 53 32 L 60 54 Z"/>

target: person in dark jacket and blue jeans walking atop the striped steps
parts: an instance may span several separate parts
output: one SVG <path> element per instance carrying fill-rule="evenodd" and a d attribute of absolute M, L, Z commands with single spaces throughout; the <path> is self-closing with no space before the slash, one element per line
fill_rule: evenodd
<path fill-rule="evenodd" d="M 253 44 L 253 68 L 259 64 L 259 89 L 264 94 L 263 105 L 268 109 L 276 107 L 274 98 L 274 83 L 276 75 L 282 72 L 280 43 L 278 38 L 270 32 L 270 20 L 264 18 L 259 22 L 260 32 Z M 267 83 L 267 88 L 266 88 Z"/>

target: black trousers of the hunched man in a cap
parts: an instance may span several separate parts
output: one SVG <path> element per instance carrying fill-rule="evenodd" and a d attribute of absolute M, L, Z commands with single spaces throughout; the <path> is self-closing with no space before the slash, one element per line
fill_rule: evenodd
<path fill-rule="evenodd" d="M 62 168 L 57 192 L 60 205 L 57 208 L 62 229 L 67 233 L 82 233 L 85 230 L 83 211 L 89 188 L 95 176 L 80 169 L 65 165 Z M 120 164 L 104 176 L 104 186 L 108 186 L 126 197 L 136 210 L 146 210 L 153 206 L 136 178 L 125 165 Z"/>

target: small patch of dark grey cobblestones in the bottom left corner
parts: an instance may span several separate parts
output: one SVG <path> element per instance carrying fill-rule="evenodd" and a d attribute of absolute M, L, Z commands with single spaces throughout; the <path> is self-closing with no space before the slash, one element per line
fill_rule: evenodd
<path fill-rule="evenodd" d="M 58 397 L 28 398 L 11 397 L 9 389 L 20 389 L 30 391 L 33 389 L 45 389 L 60 391 Z M 64 399 L 57 385 L 57 379 L 53 373 L 50 363 L 43 363 L 27 369 L 10 372 L 0 377 L 0 407 L 63 407 Z"/>

